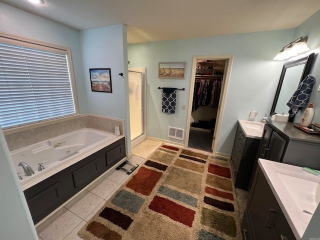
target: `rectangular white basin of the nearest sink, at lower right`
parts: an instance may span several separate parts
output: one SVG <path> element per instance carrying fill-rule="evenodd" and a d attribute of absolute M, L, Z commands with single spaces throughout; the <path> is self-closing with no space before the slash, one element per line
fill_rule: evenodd
<path fill-rule="evenodd" d="M 320 202 L 320 184 L 315 181 L 276 173 L 301 211 L 314 213 Z M 307 214 L 307 213 L 305 213 Z"/>

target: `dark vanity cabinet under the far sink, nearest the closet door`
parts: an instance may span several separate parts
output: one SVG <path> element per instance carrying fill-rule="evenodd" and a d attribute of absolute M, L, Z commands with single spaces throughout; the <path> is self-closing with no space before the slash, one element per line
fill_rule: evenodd
<path fill-rule="evenodd" d="M 247 190 L 259 142 L 259 138 L 247 137 L 237 123 L 231 151 L 235 187 Z"/>

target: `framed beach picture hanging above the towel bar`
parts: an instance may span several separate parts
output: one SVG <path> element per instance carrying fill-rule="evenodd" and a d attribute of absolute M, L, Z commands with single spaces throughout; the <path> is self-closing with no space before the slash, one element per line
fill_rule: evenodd
<path fill-rule="evenodd" d="M 159 62 L 159 78 L 184 79 L 185 61 Z"/>

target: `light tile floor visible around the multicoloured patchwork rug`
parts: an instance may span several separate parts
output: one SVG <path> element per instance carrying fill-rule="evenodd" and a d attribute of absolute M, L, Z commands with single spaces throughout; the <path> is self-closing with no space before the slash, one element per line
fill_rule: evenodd
<path fill-rule="evenodd" d="M 195 150 L 195 149 L 193 149 Z M 200 150 L 196 150 L 200 151 Z M 129 162 L 143 163 L 145 159 L 132 155 Z M 136 171 L 136 170 L 135 170 Z M 39 240 L 77 240 L 80 228 L 103 206 L 131 175 L 121 170 L 110 170 L 59 210 L 36 226 Z M 236 188 L 240 218 L 247 199 L 247 191 Z"/>

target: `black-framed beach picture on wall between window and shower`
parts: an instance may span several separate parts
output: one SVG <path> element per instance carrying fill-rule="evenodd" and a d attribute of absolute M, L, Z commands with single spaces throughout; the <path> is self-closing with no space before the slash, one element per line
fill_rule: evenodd
<path fill-rule="evenodd" d="M 111 68 L 90 68 L 92 91 L 112 92 Z"/>

